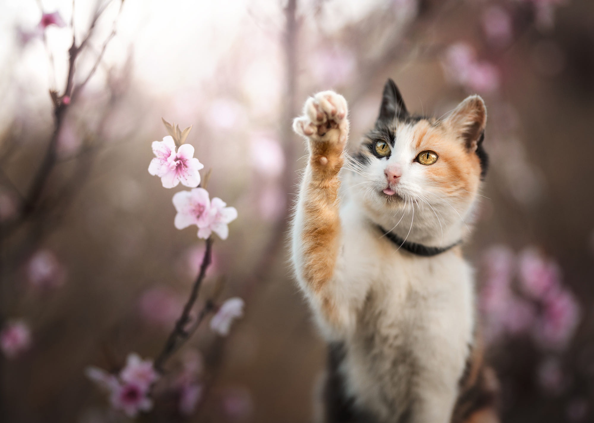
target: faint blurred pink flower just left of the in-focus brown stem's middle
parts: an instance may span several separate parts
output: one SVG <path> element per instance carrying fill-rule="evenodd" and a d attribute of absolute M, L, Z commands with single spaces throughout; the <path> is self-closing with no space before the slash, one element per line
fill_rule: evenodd
<path fill-rule="evenodd" d="M 171 329 L 184 304 L 175 292 L 156 287 L 145 291 L 138 301 L 141 316 L 149 323 Z"/>

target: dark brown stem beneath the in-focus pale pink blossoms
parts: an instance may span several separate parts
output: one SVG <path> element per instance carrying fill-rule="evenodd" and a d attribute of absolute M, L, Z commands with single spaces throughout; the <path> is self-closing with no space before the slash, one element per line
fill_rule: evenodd
<path fill-rule="evenodd" d="M 163 365 L 165 365 L 165 362 L 168 360 L 168 358 L 171 357 L 171 355 L 175 351 L 177 351 L 179 346 L 181 344 L 183 344 L 188 339 L 189 335 L 191 334 L 188 330 L 186 330 L 186 325 L 188 324 L 188 322 L 190 320 L 189 313 L 192 310 L 192 307 L 194 307 L 194 303 L 196 302 L 196 300 L 198 298 L 198 292 L 200 291 L 200 287 L 202 285 L 202 282 L 204 281 L 204 277 L 206 276 L 206 271 L 208 269 L 208 266 L 210 265 L 210 263 L 212 261 L 212 247 L 213 247 L 213 238 L 208 237 L 208 239 L 206 240 L 206 250 L 204 251 L 202 263 L 200 265 L 200 272 L 198 272 L 198 277 L 196 278 L 194 285 L 192 285 L 192 290 L 190 291 L 188 301 L 186 302 L 186 304 L 184 306 L 184 310 L 182 311 L 181 316 L 179 316 L 178 321 L 175 323 L 175 327 L 173 327 L 172 332 L 169 334 L 169 337 L 168 337 L 167 341 L 165 342 L 165 345 L 163 345 L 162 351 L 160 352 L 159 356 L 154 361 L 155 370 L 157 370 L 161 373 L 163 373 Z M 207 302 L 207 306 L 208 306 L 208 302 Z M 211 308 L 211 307 L 212 307 L 212 305 L 210 305 L 209 308 Z M 208 311 L 205 311 L 205 310 L 206 310 L 206 306 L 204 307 L 204 310 L 201 312 L 201 315 L 198 316 L 198 317 L 200 317 L 200 319 L 203 319 L 204 316 L 206 316 L 207 312 L 210 311 L 210 310 L 208 310 Z"/>

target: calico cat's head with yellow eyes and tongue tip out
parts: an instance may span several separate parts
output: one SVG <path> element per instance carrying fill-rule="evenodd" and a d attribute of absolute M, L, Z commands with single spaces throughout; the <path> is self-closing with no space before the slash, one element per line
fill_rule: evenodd
<path fill-rule="evenodd" d="M 348 189 L 386 230 L 414 242 L 456 242 L 467 232 L 486 172 L 485 123 L 479 96 L 445 119 L 411 115 L 388 79 L 375 128 L 347 165 Z"/>

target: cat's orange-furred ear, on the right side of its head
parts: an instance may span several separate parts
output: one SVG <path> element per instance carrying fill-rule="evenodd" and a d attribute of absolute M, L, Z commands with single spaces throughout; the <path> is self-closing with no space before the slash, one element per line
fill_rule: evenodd
<path fill-rule="evenodd" d="M 469 96 L 458 104 L 445 119 L 450 131 L 460 138 L 470 151 L 476 151 L 479 139 L 485 131 L 486 107 L 481 96 Z"/>

